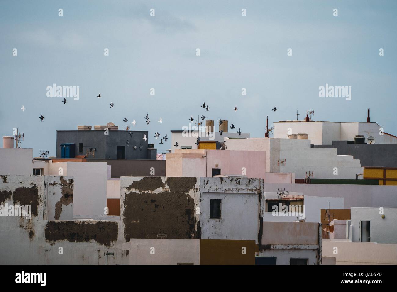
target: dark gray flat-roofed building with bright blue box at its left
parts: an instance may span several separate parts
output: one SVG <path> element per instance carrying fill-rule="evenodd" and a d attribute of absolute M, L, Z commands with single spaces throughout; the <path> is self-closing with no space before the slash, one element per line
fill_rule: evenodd
<path fill-rule="evenodd" d="M 154 144 L 143 139 L 148 131 L 118 130 L 112 123 L 94 126 L 94 130 L 91 126 L 77 128 L 56 131 L 57 158 L 156 159 Z"/>

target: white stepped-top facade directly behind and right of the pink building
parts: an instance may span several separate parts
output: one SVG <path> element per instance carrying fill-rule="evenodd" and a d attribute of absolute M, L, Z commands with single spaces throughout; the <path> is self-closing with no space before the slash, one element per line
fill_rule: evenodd
<path fill-rule="evenodd" d="M 279 159 L 285 159 L 283 172 L 295 173 L 295 178 L 304 178 L 310 171 L 314 178 L 355 179 L 364 172 L 359 159 L 337 155 L 337 149 L 310 148 L 310 140 L 250 138 L 225 142 L 228 150 L 266 151 L 266 172 L 281 172 Z"/>

